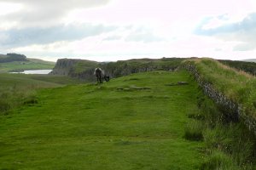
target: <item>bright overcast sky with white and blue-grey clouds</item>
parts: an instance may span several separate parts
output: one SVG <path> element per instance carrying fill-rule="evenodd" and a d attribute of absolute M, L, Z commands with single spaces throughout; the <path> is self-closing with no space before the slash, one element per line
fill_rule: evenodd
<path fill-rule="evenodd" d="M 255 0 L 0 0 L 0 54 L 256 59 Z"/>

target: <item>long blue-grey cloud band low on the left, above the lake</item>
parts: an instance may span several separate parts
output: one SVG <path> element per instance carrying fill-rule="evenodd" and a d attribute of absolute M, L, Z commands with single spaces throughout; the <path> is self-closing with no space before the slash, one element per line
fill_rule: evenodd
<path fill-rule="evenodd" d="M 23 28 L 0 31 L 0 46 L 22 47 L 31 44 L 47 44 L 51 42 L 73 41 L 84 37 L 93 37 L 105 32 L 114 31 L 115 26 L 103 25 L 68 25 L 49 28 Z"/>

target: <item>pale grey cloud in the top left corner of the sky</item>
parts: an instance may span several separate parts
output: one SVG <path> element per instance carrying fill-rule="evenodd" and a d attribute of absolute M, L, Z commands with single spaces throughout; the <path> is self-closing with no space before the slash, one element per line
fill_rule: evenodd
<path fill-rule="evenodd" d="M 0 0 L 0 3 L 21 4 L 22 8 L 11 14 L 0 17 L 0 21 L 15 21 L 17 26 L 44 26 L 54 25 L 73 9 L 96 8 L 106 5 L 110 0 Z"/>

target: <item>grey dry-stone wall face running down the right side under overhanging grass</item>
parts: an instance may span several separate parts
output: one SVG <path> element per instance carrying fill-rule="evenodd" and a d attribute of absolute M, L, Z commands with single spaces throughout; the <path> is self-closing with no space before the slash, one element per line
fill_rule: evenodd
<path fill-rule="evenodd" d="M 247 115 L 242 105 L 239 105 L 227 98 L 224 94 L 213 88 L 211 83 L 204 81 L 200 72 L 197 71 L 195 64 L 186 62 L 182 67 L 188 70 L 195 77 L 196 82 L 199 83 L 204 93 L 220 107 L 224 117 L 228 119 L 227 121 L 244 122 L 248 129 L 256 135 L 256 120 L 253 116 Z"/>

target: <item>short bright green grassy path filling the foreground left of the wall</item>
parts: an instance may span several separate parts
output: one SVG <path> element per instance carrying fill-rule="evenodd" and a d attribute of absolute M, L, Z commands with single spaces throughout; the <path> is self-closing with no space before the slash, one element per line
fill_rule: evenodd
<path fill-rule="evenodd" d="M 202 144 L 183 139 L 196 92 L 183 71 L 43 90 L 0 116 L 0 169 L 198 169 Z"/>

